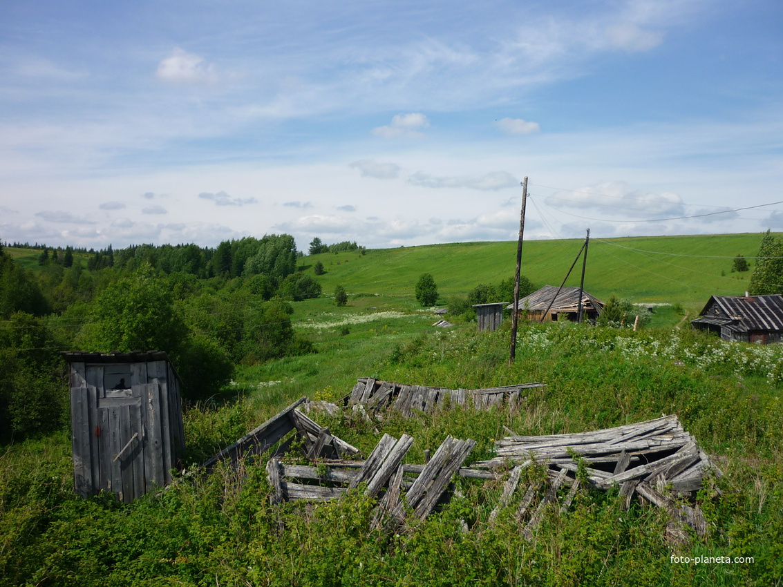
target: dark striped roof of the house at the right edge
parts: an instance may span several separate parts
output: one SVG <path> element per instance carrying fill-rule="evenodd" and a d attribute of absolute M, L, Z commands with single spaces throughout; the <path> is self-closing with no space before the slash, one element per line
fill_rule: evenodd
<path fill-rule="evenodd" d="M 715 307 L 717 316 L 705 316 L 705 312 Z M 717 324 L 708 320 L 717 318 L 731 320 L 732 330 L 783 331 L 783 296 L 712 296 L 699 316 L 691 322 Z"/>

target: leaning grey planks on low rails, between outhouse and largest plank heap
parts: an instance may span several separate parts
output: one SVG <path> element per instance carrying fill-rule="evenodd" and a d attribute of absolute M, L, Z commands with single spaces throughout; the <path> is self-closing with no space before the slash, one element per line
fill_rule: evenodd
<path fill-rule="evenodd" d="M 413 445 L 413 438 L 408 434 L 400 438 L 384 434 L 363 462 L 323 460 L 319 466 L 301 466 L 283 463 L 272 456 L 266 466 L 274 488 L 272 502 L 335 499 L 366 483 L 365 495 L 378 497 L 382 493 L 373 514 L 375 526 L 380 527 L 388 519 L 393 524 L 401 523 L 406 508 L 424 519 L 442 499 L 454 474 L 481 479 L 497 477 L 493 472 L 462 466 L 475 444 L 470 439 L 446 437 L 424 465 L 402 464 Z"/>

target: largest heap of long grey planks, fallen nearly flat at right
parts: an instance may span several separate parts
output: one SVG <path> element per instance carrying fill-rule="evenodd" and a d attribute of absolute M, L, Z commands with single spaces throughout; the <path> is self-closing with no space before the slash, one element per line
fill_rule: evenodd
<path fill-rule="evenodd" d="M 675 502 L 675 498 L 692 498 L 702 488 L 709 470 L 721 474 L 709 457 L 696 445 L 677 416 L 628 424 L 605 430 L 549 436 L 509 436 L 496 441 L 496 457 L 480 463 L 478 468 L 493 469 L 515 464 L 503 491 L 501 505 L 507 505 L 517 488 L 521 470 L 533 463 L 543 463 L 554 477 L 547 495 L 539 504 L 556 499 L 563 483 L 576 492 L 576 471 L 583 466 L 587 480 L 594 488 L 607 490 L 619 485 L 626 507 L 634 493 L 667 510 L 673 518 L 704 535 L 704 518 L 698 507 Z M 529 506 L 541 488 L 531 484 L 521 499 L 519 517 L 529 513 Z M 568 497 L 566 501 L 570 503 Z M 500 507 L 500 506 L 499 506 Z M 567 506 L 565 506 L 567 507 Z M 536 510 L 538 512 L 538 510 Z M 493 512 L 496 515 L 496 512 Z M 493 515 L 493 517 L 494 517 Z M 525 527 L 530 534 L 539 517 L 532 514 Z"/>

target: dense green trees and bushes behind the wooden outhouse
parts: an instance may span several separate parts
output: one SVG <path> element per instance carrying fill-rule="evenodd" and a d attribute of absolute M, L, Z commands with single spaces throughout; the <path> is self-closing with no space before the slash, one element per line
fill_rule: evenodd
<path fill-rule="evenodd" d="M 190 402 L 235 365 L 315 351 L 290 320 L 291 301 L 322 292 L 293 236 L 44 250 L 26 270 L 0 246 L 0 436 L 67 427 L 60 351 L 166 351 Z"/>

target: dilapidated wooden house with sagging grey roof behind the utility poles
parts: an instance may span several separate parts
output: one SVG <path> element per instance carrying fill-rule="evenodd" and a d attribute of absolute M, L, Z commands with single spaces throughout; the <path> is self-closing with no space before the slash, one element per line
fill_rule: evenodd
<path fill-rule="evenodd" d="M 513 309 L 514 304 L 510 304 L 508 308 Z M 521 298 L 518 308 L 520 314 L 532 322 L 556 322 L 557 320 L 576 322 L 576 314 L 579 310 L 579 287 L 563 287 L 557 294 L 557 287 L 543 286 L 540 290 Z M 604 302 L 582 291 L 583 320 L 595 320 L 603 310 Z M 547 314 L 544 315 L 544 312 Z"/>

